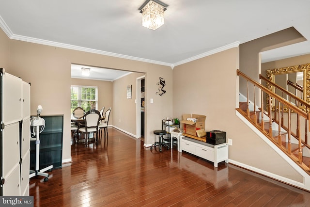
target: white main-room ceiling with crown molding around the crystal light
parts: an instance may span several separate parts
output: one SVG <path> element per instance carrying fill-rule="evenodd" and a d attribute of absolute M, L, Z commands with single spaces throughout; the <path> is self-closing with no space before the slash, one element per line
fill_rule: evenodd
<path fill-rule="evenodd" d="M 171 67 L 292 26 L 308 41 L 263 62 L 310 53 L 310 0 L 162 1 L 155 31 L 141 26 L 144 0 L 0 0 L 0 27 L 11 39 Z"/>

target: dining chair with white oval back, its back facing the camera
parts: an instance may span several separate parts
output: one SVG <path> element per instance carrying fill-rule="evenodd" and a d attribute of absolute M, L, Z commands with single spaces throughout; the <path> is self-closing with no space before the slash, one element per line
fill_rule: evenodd
<path fill-rule="evenodd" d="M 98 143 L 98 126 L 100 121 L 100 112 L 97 110 L 87 111 L 84 115 L 85 127 L 79 127 L 78 131 L 85 134 L 85 144 L 87 144 L 89 134 L 96 133 L 96 142 Z"/>

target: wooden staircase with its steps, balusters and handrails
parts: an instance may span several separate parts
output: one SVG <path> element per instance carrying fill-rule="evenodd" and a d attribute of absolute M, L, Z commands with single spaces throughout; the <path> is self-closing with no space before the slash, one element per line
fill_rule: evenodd
<path fill-rule="evenodd" d="M 310 145 L 308 144 L 310 105 L 301 99 L 298 99 L 298 102 L 302 104 L 302 107 L 299 107 L 298 104 L 291 104 L 290 101 L 273 93 L 255 80 L 248 78 L 239 70 L 237 70 L 237 74 L 247 80 L 247 101 L 239 102 L 239 108 L 236 108 L 236 110 L 310 175 L 310 158 L 308 157 L 310 155 Z M 249 83 L 254 87 L 254 104 L 252 103 L 251 107 L 249 107 L 251 102 L 248 98 Z M 269 84 L 274 83 L 271 82 Z M 276 84 L 274 85 L 279 87 Z M 255 104 L 255 92 L 258 91 L 257 89 L 260 89 L 262 97 L 259 108 Z M 264 97 L 265 95 L 269 97 L 266 104 L 267 107 L 263 104 L 263 93 Z M 294 95 L 289 94 L 288 96 Z M 294 99 L 297 98 L 294 96 Z M 253 108 L 253 110 L 250 111 L 250 108 Z M 285 111 L 284 108 L 288 110 Z M 292 116 L 296 117 L 296 120 L 292 119 Z M 305 126 L 302 126 L 301 123 L 305 123 Z M 295 131 L 292 129 L 292 126 L 294 126 Z M 301 126 L 304 127 L 305 131 L 301 131 Z M 307 156 L 304 154 L 307 154 Z"/>

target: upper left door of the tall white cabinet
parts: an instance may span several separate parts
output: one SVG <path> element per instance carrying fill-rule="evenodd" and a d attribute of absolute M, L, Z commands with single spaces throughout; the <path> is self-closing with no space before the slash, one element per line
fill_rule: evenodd
<path fill-rule="evenodd" d="M 22 120 L 22 80 L 8 73 L 2 80 L 2 122 L 9 125 Z"/>

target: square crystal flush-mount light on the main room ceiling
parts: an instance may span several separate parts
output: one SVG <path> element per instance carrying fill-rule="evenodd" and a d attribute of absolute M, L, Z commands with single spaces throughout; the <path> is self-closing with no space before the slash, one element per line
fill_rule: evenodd
<path fill-rule="evenodd" d="M 159 0 L 146 0 L 139 10 L 142 14 L 142 26 L 156 30 L 165 23 L 165 14 L 168 5 Z"/>

